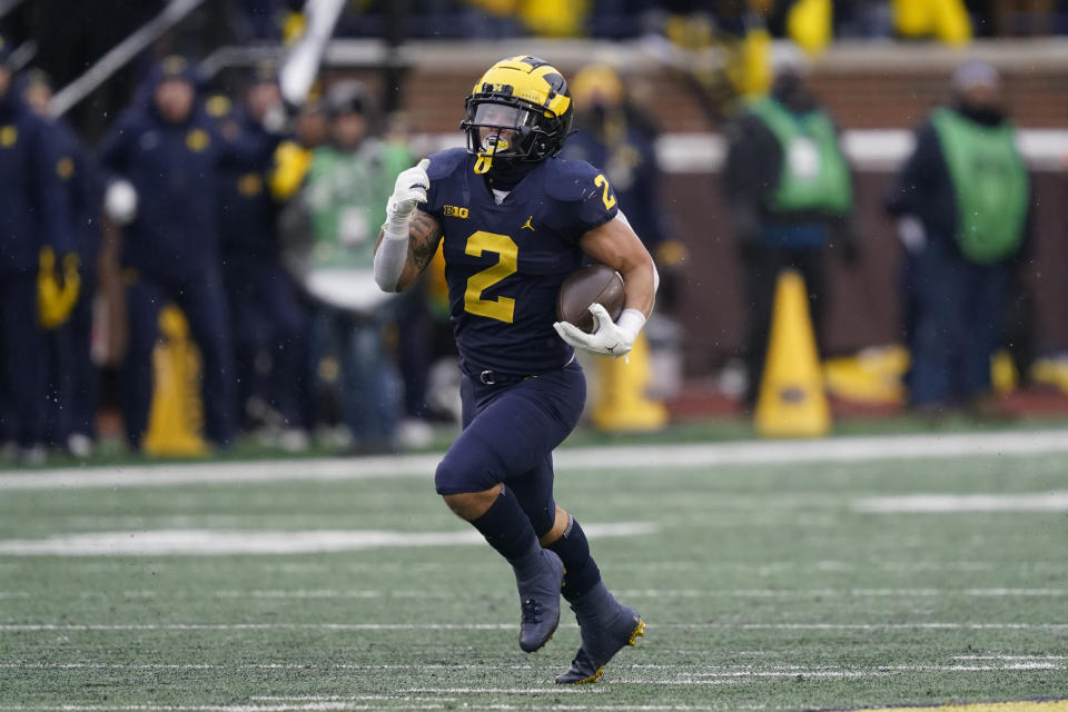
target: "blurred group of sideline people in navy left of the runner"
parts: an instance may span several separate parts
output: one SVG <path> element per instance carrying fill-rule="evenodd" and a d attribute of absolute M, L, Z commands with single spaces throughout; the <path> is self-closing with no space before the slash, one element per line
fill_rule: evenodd
<path fill-rule="evenodd" d="M 49 118 L 50 92 L 42 72 L 0 68 L 9 454 L 91 452 L 109 352 L 116 377 L 103 396 L 129 448 L 142 449 L 170 387 L 161 379 L 184 377 L 168 376 L 160 336 L 174 357 L 186 335 L 215 449 L 256 432 L 301 451 L 317 426 L 360 452 L 428 437 L 428 342 L 441 319 L 421 291 L 386 300 L 370 271 L 386 198 L 413 155 L 378 138 L 360 85 L 336 82 L 287 112 L 274 67 L 228 97 L 204 92 L 195 67 L 170 56 L 93 151 Z M 98 275 L 119 295 L 95 319 Z"/>

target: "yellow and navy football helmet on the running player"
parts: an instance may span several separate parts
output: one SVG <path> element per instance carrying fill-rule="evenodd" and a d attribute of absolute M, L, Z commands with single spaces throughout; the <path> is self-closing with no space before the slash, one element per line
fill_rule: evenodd
<path fill-rule="evenodd" d="M 477 156 L 475 172 L 494 160 L 540 161 L 555 156 L 571 131 L 571 95 L 560 71 L 536 57 L 502 59 L 482 76 L 465 102 L 459 128 L 467 152 Z M 508 131 L 508 136 L 502 136 Z"/>

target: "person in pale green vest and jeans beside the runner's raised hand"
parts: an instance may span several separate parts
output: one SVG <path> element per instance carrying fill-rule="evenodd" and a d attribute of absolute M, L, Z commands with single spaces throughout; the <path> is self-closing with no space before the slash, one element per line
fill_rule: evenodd
<path fill-rule="evenodd" d="M 313 364 L 335 355 L 342 419 L 357 449 L 378 452 L 394 447 L 400 383 L 383 344 L 396 304 L 375 284 L 374 247 L 394 177 L 413 156 L 374 136 L 374 111 L 358 82 L 332 87 L 326 108 L 330 140 L 312 151 L 290 205 L 290 228 L 295 211 L 305 239 L 289 261 L 316 304 Z"/>

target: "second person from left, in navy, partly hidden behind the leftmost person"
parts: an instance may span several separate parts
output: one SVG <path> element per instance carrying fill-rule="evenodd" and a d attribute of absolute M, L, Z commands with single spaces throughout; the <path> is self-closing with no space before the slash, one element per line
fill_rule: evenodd
<path fill-rule="evenodd" d="M 92 452 L 96 439 L 99 394 L 99 378 L 90 354 L 96 261 L 100 249 L 99 186 L 95 166 L 73 130 L 62 119 L 51 119 L 49 77 L 39 70 L 27 72 L 23 97 L 33 112 L 52 128 L 60 155 L 59 177 L 67 188 L 69 229 L 81 265 L 81 288 L 70 320 L 49 336 L 49 439 L 76 456 L 86 456 Z"/>

